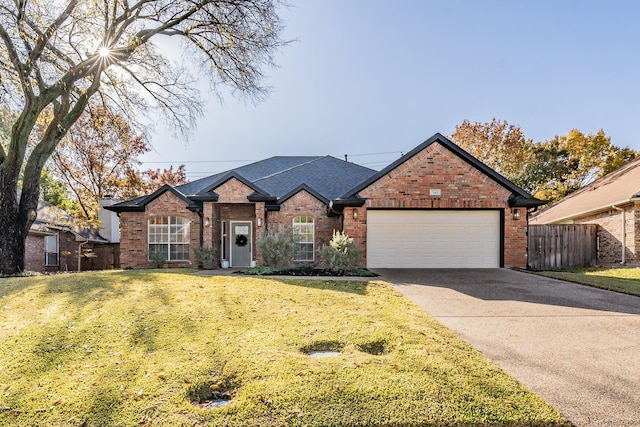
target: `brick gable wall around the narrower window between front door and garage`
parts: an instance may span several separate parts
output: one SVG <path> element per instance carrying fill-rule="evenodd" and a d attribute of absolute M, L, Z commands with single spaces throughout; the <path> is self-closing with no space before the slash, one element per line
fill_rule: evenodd
<path fill-rule="evenodd" d="M 267 213 L 267 223 L 270 230 L 279 226 L 291 227 L 293 218 L 306 215 L 313 218 L 315 262 L 318 262 L 318 250 L 329 243 L 334 230 L 340 230 L 340 217 L 328 217 L 324 202 L 316 199 L 302 190 L 286 200 L 279 211 Z"/>

